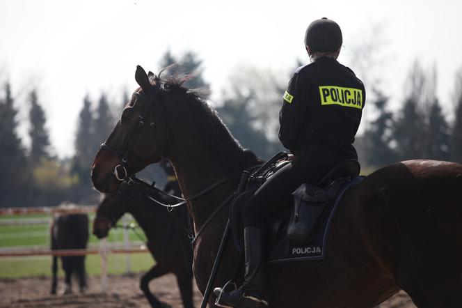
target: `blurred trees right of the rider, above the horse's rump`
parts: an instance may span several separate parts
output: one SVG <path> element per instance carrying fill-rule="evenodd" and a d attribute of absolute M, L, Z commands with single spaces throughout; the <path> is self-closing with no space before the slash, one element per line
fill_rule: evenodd
<path fill-rule="evenodd" d="M 436 94 L 435 68 L 424 69 L 415 61 L 408 72 L 400 108 L 390 111 L 389 98 L 374 90 L 369 102 L 376 116 L 363 136 L 362 154 L 369 167 L 417 158 L 462 163 L 462 68 L 456 74 L 452 99 L 443 102 L 454 110 L 445 116 Z"/>

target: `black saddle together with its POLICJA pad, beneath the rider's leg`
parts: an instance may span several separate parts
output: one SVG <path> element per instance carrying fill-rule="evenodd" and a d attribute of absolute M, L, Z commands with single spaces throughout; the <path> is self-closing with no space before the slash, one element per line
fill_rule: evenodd
<path fill-rule="evenodd" d="M 234 243 L 242 249 L 241 208 L 255 190 L 280 168 L 290 162 L 285 153 L 278 153 L 251 176 L 246 177 L 246 187 L 234 198 L 231 226 Z M 267 222 L 268 263 L 281 263 L 309 259 L 324 259 L 326 240 L 333 214 L 342 194 L 359 183 L 360 164 L 357 160 L 345 160 L 333 167 L 317 185 L 302 184 L 293 195 L 292 204 L 280 210 Z"/>

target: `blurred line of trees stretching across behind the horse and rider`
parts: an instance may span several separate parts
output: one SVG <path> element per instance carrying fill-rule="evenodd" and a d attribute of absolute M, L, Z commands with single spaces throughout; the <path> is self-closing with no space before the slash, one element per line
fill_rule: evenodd
<path fill-rule="evenodd" d="M 301 65 L 300 61 L 294 64 Z M 159 67 L 168 67 L 163 77 L 188 75 L 184 86 L 210 92 L 210 84 L 202 75 L 202 60 L 193 52 L 175 56 L 167 51 Z M 221 101 L 214 105 L 241 145 L 264 159 L 283 149 L 277 138 L 278 111 L 289 77 L 288 73 L 264 68 L 238 67 L 229 76 Z M 436 95 L 435 70 L 424 70 L 417 61 L 408 72 L 406 92 L 399 99 L 401 108 L 390 111 L 390 98 L 374 88 L 374 95 L 369 96 L 373 99 L 367 101 L 374 116 L 357 139 L 363 167 L 377 168 L 413 158 L 462 162 L 462 69 L 456 75 L 455 90 L 454 101 L 445 102 L 454 106 L 449 122 Z M 122 93 L 116 101 L 109 100 L 106 93 L 96 100 L 85 95 L 74 136 L 74 155 L 59 159 L 49 140 L 40 93 L 33 89 L 27 97 L 31 142 L 26 147 L 17 133 L 17 109 L 10 84 L 4 84 L 0 91 L 0 206 L 97 201 L 99 194 L 90 182 L 90 164 L 129 101 L 128 93 Z M 165 180 L 156 166 L 148 167 L 141 176 L 158 183 Z"/>

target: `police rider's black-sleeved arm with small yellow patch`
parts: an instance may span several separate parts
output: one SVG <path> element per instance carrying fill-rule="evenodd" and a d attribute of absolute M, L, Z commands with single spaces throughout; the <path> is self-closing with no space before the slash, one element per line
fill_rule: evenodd
<path fill-rule="evenodd" d="M 306 118 L 307 98 L 308 84 L 303 82 L 303 77 L 298 72 L 295 72 L 284 93 L 279 112 L 279 139 L 292 153 L 300 140 L 301 128 Z"/>

